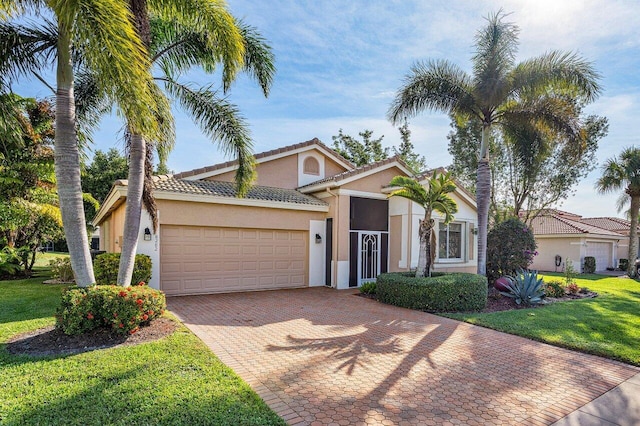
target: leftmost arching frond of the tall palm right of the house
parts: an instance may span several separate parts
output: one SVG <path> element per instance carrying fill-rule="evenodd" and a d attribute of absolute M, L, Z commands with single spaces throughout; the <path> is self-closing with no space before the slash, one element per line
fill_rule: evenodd
<path fill-rule="evenodd" d="M 415 63 L 393 100 L 387 117 L 398 124 L 425 110 L 479 116 L 470 77 L 447 61 Z"/>

